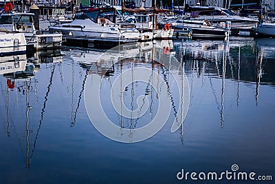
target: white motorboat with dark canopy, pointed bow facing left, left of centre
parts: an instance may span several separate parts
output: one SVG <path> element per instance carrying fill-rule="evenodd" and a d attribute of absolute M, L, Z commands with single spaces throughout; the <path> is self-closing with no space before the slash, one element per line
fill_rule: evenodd
<path fill-rule="evenodd" d="M 115 8 L 91 8 L 72 23 L 50 26 L 49 30 L 62 32 L 68 42 L 83 43 L 83 46 L 91 48 L 106 48 L 140 39 L 140 32 L 135 28 L 115 25 Z"/>

